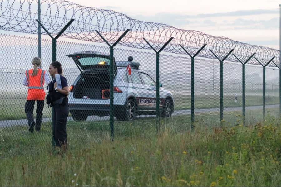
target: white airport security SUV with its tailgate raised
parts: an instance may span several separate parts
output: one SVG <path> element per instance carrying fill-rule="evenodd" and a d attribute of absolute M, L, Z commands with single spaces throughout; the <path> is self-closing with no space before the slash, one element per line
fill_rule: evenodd
<path fill-rule="evenodd" d="M 109 55 L 101 52 L 77 52 L 67 55 L 81 74 L 69 87 L 69 110 L 75 121 L 88 116 L 109 115 Z M 134 120 L 136 115 L 156 114 L 156 84 L 140 63 L 114 60 L 114 116 L 118 120 Z M 131 66 L 129 75 L 127 66 Z M 160 84 L 160 115 L 171 117 L 174 112 L 172 93 Z"/>

